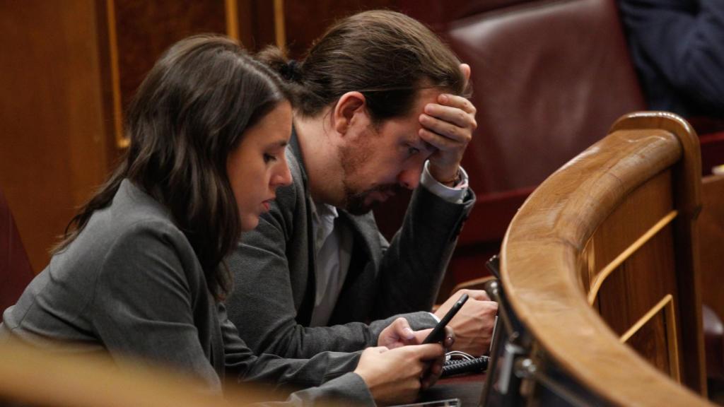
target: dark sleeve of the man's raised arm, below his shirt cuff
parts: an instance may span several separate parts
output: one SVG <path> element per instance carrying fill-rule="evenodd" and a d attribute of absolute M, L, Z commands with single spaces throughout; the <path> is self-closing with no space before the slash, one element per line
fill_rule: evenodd
<path fill-rule="evenodd" d="M 432 309 L 455 243 L 468 219 L 475 194 L 468 188 L 462 204 L 454 204 L 418 187 L 403 226 L 387 242 L 379 267 L 376 318 Z"/>

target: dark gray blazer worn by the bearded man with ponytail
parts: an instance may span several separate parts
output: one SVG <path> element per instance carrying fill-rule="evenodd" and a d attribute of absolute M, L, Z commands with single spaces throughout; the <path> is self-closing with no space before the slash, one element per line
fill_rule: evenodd
<path fill-rule="evenodd" d="M 475 196 L 451 204 L 416 188 L 401 230 L 392 243 L 373 214 L 340 210 L 336 222 L 353 231 L 350 269 L 329 327 L 308 327 L 315 293 L 311 198 L 302 151 L 292 134 L 287 160 L 293 182 L 277 189 L 271 211 L 243 235 L 228 261 L 235 288 L 227 298 L 229 318 L 256 353 L 306 358 L 322 351 L 358 351 L 376 345 L 379 332 L 397 316 L 413 329 L 432 327 L 425 312 L 433 301 Z"/>

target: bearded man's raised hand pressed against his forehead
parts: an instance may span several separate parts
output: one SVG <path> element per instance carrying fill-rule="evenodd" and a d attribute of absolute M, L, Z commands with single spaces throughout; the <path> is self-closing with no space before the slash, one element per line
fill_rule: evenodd
<path fill-rule="evenodd" d="M 460 65 L 460 70 L 470 78 L 470 67 Z M 473 138 L 475 106 L 462 96 L 441 93 L 437 103 L 426 104 L 419 117 L 422 128 L 419 135 L 429 146 L 430 175 L 442 183 L 450 183 L 458 176 L 460 161 Z"/>

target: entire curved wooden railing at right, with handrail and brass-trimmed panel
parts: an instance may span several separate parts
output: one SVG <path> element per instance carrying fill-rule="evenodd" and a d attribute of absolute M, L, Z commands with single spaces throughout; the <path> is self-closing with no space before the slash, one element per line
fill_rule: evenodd
<path fill-rule="evenodd" d="M 683 119 L 629 114 L 523 204 L 500 264 L 519 331 L 509 327 L 503 340 L 512 333 L 518 351 L 505 353 L 499 343 L 495 362 L 517 366 L 520 397 L 707 403 L 700 397 L 700 168 L 696 134 Z M 500 372 L 489 376 L 494 391 Z"/>

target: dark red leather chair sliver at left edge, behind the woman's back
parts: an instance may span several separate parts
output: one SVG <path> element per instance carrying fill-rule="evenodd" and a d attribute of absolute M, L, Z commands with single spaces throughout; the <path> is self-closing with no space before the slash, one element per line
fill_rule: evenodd
<path fill-rule="evenodd" d="M 10 208 L 0 190 L 0 315 L 17 301 L 33 276 Z"/>

